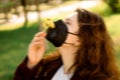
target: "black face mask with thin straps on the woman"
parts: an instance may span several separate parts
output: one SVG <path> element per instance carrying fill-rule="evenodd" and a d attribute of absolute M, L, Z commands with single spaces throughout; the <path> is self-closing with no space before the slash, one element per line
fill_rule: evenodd
<path fill-rule="evenodd" d="M 58 20 L 54 22 L 55 28 L 49 28 L 47 30 L 47 36 L 46 38 L 56 47 L 60 47 L 67 38 L 68 28 L 66 24 L 62 20 Z M 73 33 L 70 33 L 73 34 Z M 73 34 L 76 35 L 76 34 Z M 72 43 L 66 43 L 66 44 L 72 44 Z"/>

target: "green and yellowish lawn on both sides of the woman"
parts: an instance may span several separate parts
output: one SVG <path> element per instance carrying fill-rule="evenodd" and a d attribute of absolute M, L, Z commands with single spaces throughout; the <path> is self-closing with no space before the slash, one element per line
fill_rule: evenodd
<path fill-rule="evenodd" d="M 120 63 L 120 14 L 105 17 L 108 31 L 114 40 L 117 64 Z M 0 80 L 12 80 L 13 73 L 27 54 L 28 45 L 34 34 L 39 31 L 34 23 L 27 28 L 10 31 L 0 31 Z M 46 53 L 54 50 L 50 44 Z M 120 69 L 120 64 L 118 64 Z"/>

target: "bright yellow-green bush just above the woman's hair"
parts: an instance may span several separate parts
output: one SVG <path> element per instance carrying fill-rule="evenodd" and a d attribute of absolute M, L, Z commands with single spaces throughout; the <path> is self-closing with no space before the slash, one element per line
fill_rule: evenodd
<path fill-rule="evenodd" d="M 112 9 L 105 2 L 101 2 L 99 5 L 96 5 L 89 10 L 101 16 L 109 16 L 110 14 L 112 14 Z"/>

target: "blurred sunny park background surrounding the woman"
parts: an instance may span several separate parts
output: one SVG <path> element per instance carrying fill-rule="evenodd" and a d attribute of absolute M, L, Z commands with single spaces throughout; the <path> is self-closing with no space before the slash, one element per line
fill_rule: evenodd
<path fill-rule="evenodd" d="M 0 80 L 12 80 L 46 18 L 63 19 L 76 8 L 101 15 L 114 41 L 120 69 L 120 0 L 0 0 Z M 55 50 L 48 42 L 47 54 Z"/>

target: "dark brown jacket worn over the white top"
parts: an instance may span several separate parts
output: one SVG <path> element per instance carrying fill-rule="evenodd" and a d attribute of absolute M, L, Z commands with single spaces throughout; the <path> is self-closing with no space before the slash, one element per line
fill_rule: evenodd
<path fill-rule="evenodd" d="M 18 66 L 13 80 L 51 80 L 55 72 L 62 65 L 61 57 L 51 57 L 51 59 L 43 59 L 32 70 L 26 66 L 27 58 Z M 80 77 L 76 70 L 70 80 L 107 80 L 105 77 L 93 77 L 86 76 Z"/>

